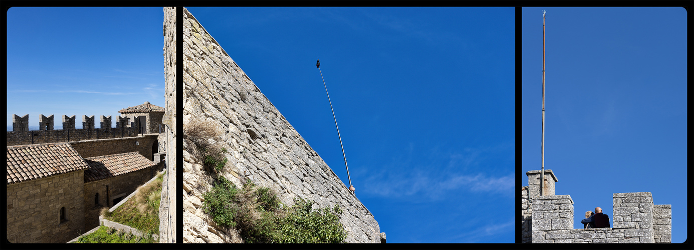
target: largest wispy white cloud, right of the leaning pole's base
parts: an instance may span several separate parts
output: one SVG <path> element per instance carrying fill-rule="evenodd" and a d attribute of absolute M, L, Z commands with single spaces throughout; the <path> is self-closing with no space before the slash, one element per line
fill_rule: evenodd
<path fill-rule="evenodd" d="M 489 165 L 503 162 L 494 158 L 512 150 L 512 144 L 509 141 L 483 149 L 465 148 L 461 152 L 440 152 L 439 147 L 434 147 L 422 156 L 421 150 L 415 150 L 410 143 L 405 148 L 407 153 L 402 154 L 404 159 L 393 159 L 378 172 L 371 170 L 357 175 L 366 179 L 364 192 L 381 197 L 437 200 L 460 192 L 511 195 L 515 185 L 512 168 L 498 172 L 502 166 Z"/>

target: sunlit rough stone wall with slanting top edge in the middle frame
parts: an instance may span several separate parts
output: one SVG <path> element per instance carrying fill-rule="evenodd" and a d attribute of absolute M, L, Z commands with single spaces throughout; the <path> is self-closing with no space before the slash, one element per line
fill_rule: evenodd
<path fill-rule="evenodd" d="M 339 204 L 346 242 L 382 242 L 373 215 L 185 9 L 183 22 L 184 124 L 208 120 L 221 130 L 213 143 L 228 151 L 222 175 L 273 188 L 289 206 L 295 197 L 313 200 L 314 208 Z M 212 179 L 195 155 L 184 137 L 183 241 L 232 242 L 237 235 L 214 225 L 198 202 Z"/>

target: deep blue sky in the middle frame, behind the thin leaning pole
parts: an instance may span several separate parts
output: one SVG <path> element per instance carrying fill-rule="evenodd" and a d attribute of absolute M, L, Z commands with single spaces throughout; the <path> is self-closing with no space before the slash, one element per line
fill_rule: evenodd
<path fill-rule="evenodd" d="M 188 8 L 388 242 L 514 242 L 514 8 Z"/>

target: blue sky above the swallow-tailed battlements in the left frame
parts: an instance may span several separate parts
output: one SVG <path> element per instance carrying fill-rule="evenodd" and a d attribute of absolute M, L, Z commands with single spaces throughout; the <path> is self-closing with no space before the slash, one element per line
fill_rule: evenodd
<path fill-rule="evenodd" d="M 12 114 L 112 116 L 149 101 L 164 107 L 162 8 L 10 8 L 7 125 Z M 36 127 L 36 128 L 34 128 Z"/>

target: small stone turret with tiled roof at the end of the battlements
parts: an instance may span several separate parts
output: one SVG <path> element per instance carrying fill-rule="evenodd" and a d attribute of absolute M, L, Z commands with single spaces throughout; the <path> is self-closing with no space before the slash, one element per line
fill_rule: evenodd
<path fill-rule="evenodd" d="M 154 134 L 160 132 L 164 108 L 149 102 L 127 107 L 118 111 L 122 118 L 126 118 L 128 127 L 137 127 L 138 134 Z M 162 128 L 163 130 L 163 128 Z"/>

